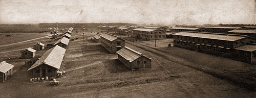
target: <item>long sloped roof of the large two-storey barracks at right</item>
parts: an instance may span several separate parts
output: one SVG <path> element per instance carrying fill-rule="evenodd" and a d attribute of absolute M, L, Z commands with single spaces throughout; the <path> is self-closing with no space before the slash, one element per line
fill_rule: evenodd
<path fill-rule="evenodd" d="M 246 36 L 224 35 L 224 34 L 217 34 L 217 33 L 200 33 L 200 32 L 179 32 L 179 33 L 175 33 L 173 35 L 217 39 L 217 40 L 227 40 L 227 41 L 236 41 L 239 39 L 246 38 Z"/>

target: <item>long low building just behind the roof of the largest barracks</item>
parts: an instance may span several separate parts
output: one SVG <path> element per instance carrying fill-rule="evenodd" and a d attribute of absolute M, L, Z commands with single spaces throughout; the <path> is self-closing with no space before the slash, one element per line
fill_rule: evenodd
<path fill-rule="evenodd" d="M 238 29 L 240 27 L 197 27 L 202 29 L 201 32 L 211 32 L 211 33 L 227 33 L 228 31 Z"/>

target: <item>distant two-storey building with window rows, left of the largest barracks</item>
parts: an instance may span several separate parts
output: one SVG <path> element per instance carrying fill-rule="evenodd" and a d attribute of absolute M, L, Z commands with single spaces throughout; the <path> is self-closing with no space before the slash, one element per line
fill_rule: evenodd
<path fill-rule="evenodd" d="M 133 33 L 136 38 L 145 39 L 145 40 L 165 39 L 165 32 L 157 29 L 138 28 L 138 29 L 134 29 Z"/>

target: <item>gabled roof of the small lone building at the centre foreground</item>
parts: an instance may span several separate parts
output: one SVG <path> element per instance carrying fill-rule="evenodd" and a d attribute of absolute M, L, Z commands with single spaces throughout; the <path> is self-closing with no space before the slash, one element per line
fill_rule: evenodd
<path fill-rule="evenodd" d="M 139 52 L 133 50 L 132 48 L 127 47 L 127 46 L 124 46 L 121 50 L 117 51 L 116 53 L 118 55 L 122 56 L 124 59 L 126 59 L 129 62 L 133 62 L 134 60 L 143 56 L 143 54 L 141 54 L 141 53 L 139 53 Z M 150 58 L 148 58 L 148 59 L 150 59 Z"/>

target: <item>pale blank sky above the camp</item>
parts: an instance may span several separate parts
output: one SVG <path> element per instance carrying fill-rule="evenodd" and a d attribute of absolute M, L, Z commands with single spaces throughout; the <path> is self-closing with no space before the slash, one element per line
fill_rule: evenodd
<path fill-rule="evenodd" d="M 254 23 L 255 0 L 0 0 L 0 23 Z"/>

